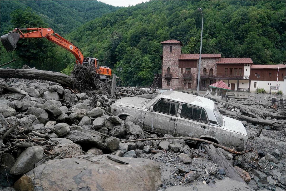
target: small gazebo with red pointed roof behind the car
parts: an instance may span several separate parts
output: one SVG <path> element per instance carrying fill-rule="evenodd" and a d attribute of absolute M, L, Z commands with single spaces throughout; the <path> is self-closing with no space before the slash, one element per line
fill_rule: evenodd
<path fill-rule="evenodd" d="M 232 91 L 223 81 L 215 82 L 208 87 L 210 87 L 211 97 L 221 97 L 225 101 L 227 101 L 227 91 Z"/>

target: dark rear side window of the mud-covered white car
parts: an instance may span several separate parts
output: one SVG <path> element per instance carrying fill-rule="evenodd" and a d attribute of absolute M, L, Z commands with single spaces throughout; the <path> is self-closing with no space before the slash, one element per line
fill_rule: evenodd
<path fill-rule="evenodd" d="M 208 123 L 206 112 L 202 108 L 192 105 L 183 104 L 180 117 L 200 121 L 202 123 Z"/>

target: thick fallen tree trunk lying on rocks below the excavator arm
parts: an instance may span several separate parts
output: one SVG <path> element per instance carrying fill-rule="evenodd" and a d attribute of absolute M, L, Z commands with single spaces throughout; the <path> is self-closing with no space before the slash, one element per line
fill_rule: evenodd
<path fill-rule="evenodd" d="M 74 80 L 71 76 L 59 72 L 51 72 L 36 69 L 7 69 L 1 68 L 1 78 L 25 78 L 25 79 L 41 79 L 51 82 L 57 82 L 62 86 L 73 87 Z"/>

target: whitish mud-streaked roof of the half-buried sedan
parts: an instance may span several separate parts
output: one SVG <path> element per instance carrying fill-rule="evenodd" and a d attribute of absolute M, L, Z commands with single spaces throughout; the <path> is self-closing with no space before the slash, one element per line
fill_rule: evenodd
<path fill-rule="evenodd" d="M 204 97 L 196 96 L 193 94 L 183 93 L 183 92 L 164 91 L 161 94 L 159 94 L 156 97 L 156 99 L 154 99 L 154 102 L 161 98 L 178 101 L 178 102 L 182 102 L 182 103 L 186 103 L 186 104 L 190 104 L 190 105 L 194 105 L 194 106 L 198 106 L 202 108 L 208 108 L 211 110 L 215 108 L 215 103 L 212 100 L 204 98 Z M 149 102 L 147 105 L 148 107 L 150 107 L 152 104 L 153 102 L 152 103 Z"/>

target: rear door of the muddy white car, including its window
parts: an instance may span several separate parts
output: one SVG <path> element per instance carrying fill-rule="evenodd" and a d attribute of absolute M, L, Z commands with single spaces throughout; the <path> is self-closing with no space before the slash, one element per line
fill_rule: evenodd
<path fill-rule="evenodd" d="M 204 109 L 182 103 L 177 120 L 176 137 L 200 137 L 207 134 L 209 129 L 208 118 Z"/>

